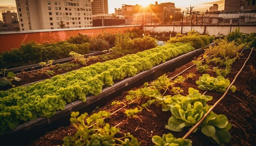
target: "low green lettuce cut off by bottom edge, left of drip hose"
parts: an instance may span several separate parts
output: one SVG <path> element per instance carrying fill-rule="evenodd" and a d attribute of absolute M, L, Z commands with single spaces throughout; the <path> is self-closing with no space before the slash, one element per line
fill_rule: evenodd
<path fill-rule="evenodd" d="M 164 134 L 162 137 L 154 135 L 152 142 L 155 146 L 192 146 L 190 139 L 175 138 L 171 133 Z"/>

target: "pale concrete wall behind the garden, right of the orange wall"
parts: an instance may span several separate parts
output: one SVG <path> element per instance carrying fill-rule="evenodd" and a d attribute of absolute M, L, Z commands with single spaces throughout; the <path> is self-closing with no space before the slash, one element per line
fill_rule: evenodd
<path fill-rule="evenodd" d="M 237 28 L 238 26 L 183 26 L 183 29 L 181 26 L 145 26 L 145 31 L 175 31 L 177 33 L 181 33 L 182 29 L 182 33 L 187 33 L 191 30 L 195 30 L 199 33 L 206 33 L 209 35 L 227 35 Z M 243 33 L 256 33 L 256 26 L 240 26 L 240 31 Z"/>

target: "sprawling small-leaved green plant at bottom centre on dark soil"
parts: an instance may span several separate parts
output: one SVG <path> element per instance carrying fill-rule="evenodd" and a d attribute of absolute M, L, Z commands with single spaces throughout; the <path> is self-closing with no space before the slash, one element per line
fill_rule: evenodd
<path fill-rule="evenodd" d="M 78 115 L 79 112 L 71 113 L 70 122 L 77 129 L 77 132 L 63 139 L 64 146 L 139 146 L 140 144 L 130 133 L 125 133 L 124 137 L 115 137 L 119 128 L 104 122 L 105 118 L 110 117 L 110 113 L 106 111 L 99 111 L 90 117 L 88 113 Z"/>

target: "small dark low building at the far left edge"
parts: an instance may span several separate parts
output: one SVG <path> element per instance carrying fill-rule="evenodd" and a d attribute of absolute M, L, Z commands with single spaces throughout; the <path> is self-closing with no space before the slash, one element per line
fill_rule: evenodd
<path fill-rule="evenodd" d="M 17 13 L 11 13 L 11 11 L 3 12 L 2 18 L 0 31 L 20 31 Z"/>

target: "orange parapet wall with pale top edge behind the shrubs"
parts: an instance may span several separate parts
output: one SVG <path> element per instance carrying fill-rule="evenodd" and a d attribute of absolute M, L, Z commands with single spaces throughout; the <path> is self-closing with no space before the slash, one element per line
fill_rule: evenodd
<path fill-rule="evenodd" d="M 106 33 L 117 33 L 134 28 L 138 29 L 140 25 L 2 32 L 0 33 L 0 52 L 11 51 L 13 48 L 19 48 L 21 42 L 29 42 L 32 40 L 38 43 L 58 42 L 60 40 L 67 40 L 71 36 L 76 36 L 79 33 L 93 36 L 103 31 Z"/>

